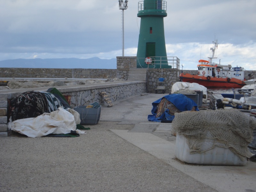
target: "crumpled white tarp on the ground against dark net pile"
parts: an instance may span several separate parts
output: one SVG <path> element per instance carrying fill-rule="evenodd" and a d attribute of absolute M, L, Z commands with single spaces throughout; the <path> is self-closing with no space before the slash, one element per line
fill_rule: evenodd
<path fill-rule="evenodd" d="M 60 107 L 51 113 L 44 113 L 35 118 L 18 119 L 8 123 L 8 129 L 27 135 L 28 137 L 42 137 L 48 134 L 66 134 L 76 131 L 76 124 L 80 123 L 79 113 L 73 109 L 70 112 Z M 79 119 L 79 120 L 78 120 Z"/>

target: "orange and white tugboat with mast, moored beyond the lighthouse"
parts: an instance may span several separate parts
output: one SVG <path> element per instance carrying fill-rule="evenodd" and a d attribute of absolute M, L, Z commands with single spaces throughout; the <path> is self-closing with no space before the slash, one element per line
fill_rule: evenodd
<path fill-rule="evenodd" d="M 188 83 L 198 83 L 207 88 L 212 87 L 233 87 L 241 88 L 245 85 L 244 68 L 232 67 L 231 65 L 220 65 L 212 62 L 215 50 L 218 48 L 218 40 L 213 42 L 214 46 L 211 48 L 212 57 L 209 60 L 199 60 L 196 75 L 189 73 L 181 73 L 180 81 Z"/>

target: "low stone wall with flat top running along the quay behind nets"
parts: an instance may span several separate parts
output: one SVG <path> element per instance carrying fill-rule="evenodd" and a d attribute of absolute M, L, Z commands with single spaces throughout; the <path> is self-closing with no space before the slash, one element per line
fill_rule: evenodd
<path fill-rule="evenodd" d="M 33 91 L 47 91 L 49 87 L 34 88 Z M 88 105 L 99 102 L 101 105 L 108 106 L 100 92 L 106 92 L 110 100 L 123 100 L 132 96 L 146 93 L 146 82 L 136 81 L 115 81 L 91 85 L 72 85 L 56 87 L 62 94 L 71 95 L 71 108 L 79 105 Z M 8 123 L 8 100 L 20 95 L 27 89 L 2 90 L 0 92 L 0 136 L 7 136 Z"/>

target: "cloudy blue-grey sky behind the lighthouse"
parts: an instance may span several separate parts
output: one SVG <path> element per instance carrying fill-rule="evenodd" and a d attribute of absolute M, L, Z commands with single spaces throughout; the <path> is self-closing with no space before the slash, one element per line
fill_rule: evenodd
<path fill-rule="evenodd" d="M 0 0 L 0 60 L 122 56 L 118 0 Z M 124 11 L 124 56 L 136 56 L 138 2 Z M 167 0 L 167 56 L 183 69 L 199 59 L 256 70 L 256 0 Z M 180 66 L 181 68 L 181 66 Z"/>

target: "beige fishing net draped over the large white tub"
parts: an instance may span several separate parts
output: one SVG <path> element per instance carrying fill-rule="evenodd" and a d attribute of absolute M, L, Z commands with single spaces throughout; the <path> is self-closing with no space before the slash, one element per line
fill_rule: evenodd
<path fill-rule="evenodd" d="M 186 137 L 190 153 L 203 153 L 215 146 L 229 148 L 242 161 L 252 156 L 248 144 L 253 141 L 256 119 L 237 109 L 184 111 L 175 113 L 173 132 Z M 207 139 L 207 146 L 202 142 Z"/>

